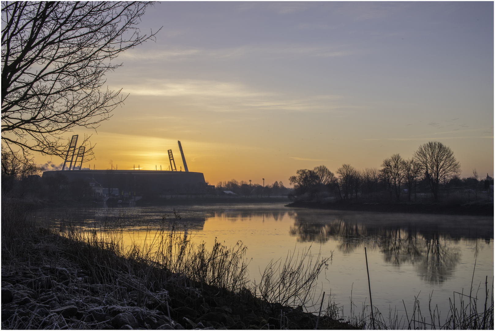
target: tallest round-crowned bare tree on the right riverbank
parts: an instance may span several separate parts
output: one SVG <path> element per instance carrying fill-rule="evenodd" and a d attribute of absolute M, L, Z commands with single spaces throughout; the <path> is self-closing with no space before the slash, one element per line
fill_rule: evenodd
<path fill-rule="evenodd" d="M 461 166 L 455 160 L 452 150 L 438 141 L 419 146 L 413 160 L 421 166 L 421 172 L 430 185 L 435 201 L 439 201 L 440 181 L 449 180 L 460 174 Z"/>

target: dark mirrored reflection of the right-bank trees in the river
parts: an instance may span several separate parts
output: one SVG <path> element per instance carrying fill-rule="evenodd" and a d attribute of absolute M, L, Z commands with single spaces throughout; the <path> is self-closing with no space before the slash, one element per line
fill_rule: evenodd
<path fill-rule="evenodd" d="M 357 222 L 335 219 L 330 223 L 296 221 L 290 234 L 297 241 L 325 243 L 330 239 L 340 242 L 343 253 L 352 253 L 364 246 L 378 250 L 387 263 L 395 266 L 408 263 L 415 266 L 419 276 L 431 283 L 441 283 L 452 276 L 460 261 L 458 247 L 446 246 L 447 235 L 432 232 L 427 237 L 415 228 L 368 228 Z"/>

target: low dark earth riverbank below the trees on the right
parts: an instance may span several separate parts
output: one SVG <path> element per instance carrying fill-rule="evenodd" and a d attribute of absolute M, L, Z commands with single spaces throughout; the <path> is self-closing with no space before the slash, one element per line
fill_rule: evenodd
<path fill-rule="evenodd" d="M 286 207 L 329 209 L 355 212 L 380 213 L 414 213 L 414 214 L 443 214 L 494 216 L 494 204 L 470 203 L 463 205 L 444 205 L 441 203 L 354 203 L 354 202 L 293 202 Z"/>

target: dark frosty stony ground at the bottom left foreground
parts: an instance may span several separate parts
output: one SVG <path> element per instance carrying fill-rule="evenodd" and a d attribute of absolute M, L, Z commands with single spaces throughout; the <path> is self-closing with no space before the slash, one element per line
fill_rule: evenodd
<path fill-rule="evenodd" d="M 2 273 L 2 329 L 315 329 L 317 316 L 302 308 L 271 309 L 253 296 L 222 297 L 218 288 L 140 291 L 125 278 L 116 286 L 95 281 L 76 265 L 19 265 L 15 272 Z M 354 328 L 322 316 L 318 329 Z"/>

